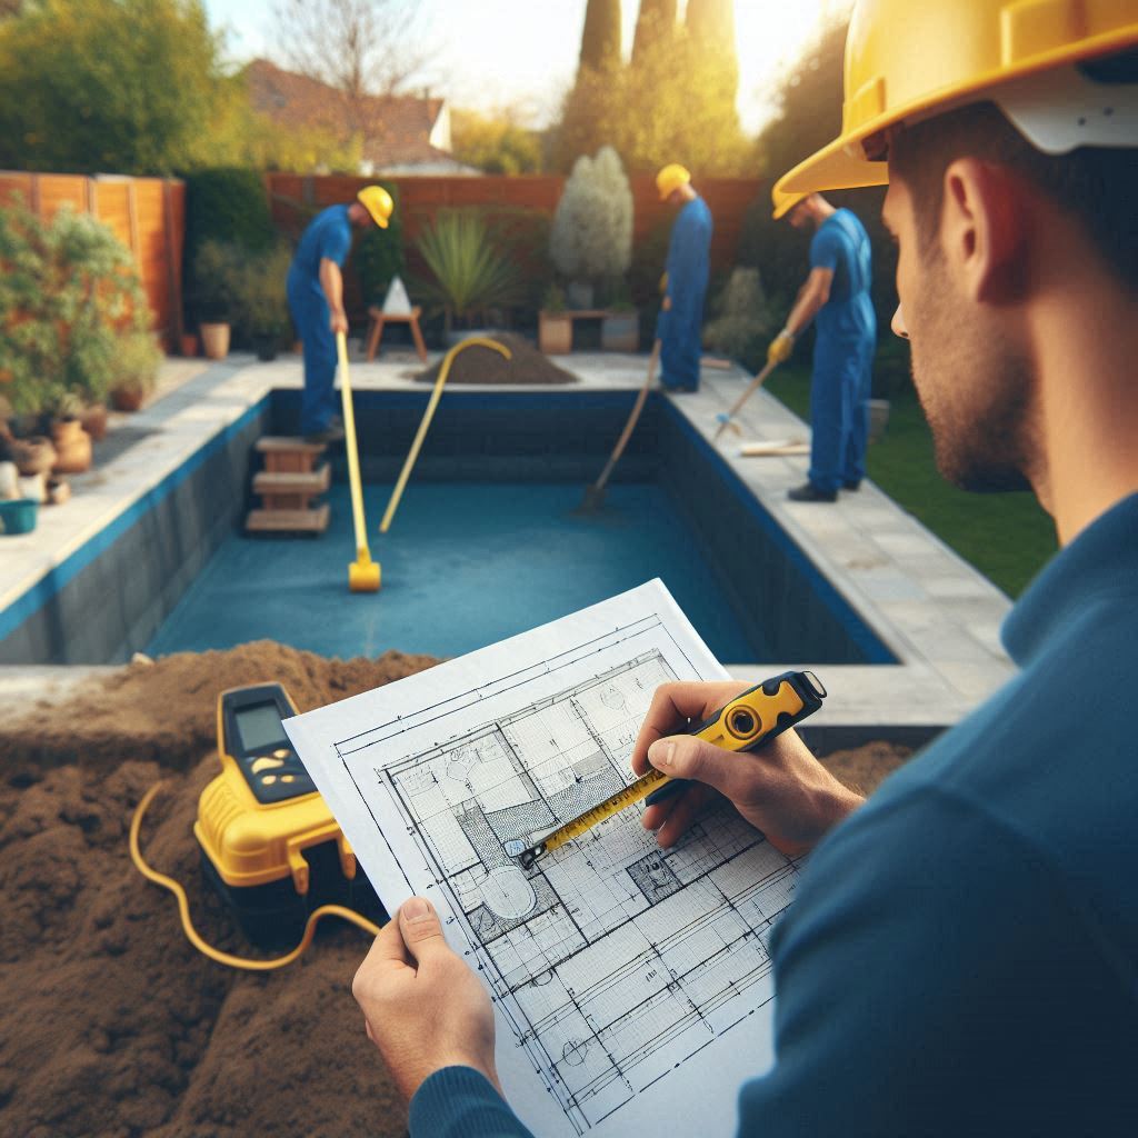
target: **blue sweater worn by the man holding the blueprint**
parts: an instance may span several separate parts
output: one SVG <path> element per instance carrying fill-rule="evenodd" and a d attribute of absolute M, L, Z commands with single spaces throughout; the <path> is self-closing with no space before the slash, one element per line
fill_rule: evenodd
<path fill-rule="evenodd" d="M 741 1135 L 1138 1133 L 1138 495 L 1052 561 L 1004 642 L 1019 676 L 811 857 Z M 527 1133 L 503 1107 L 439 1072 L 412 1133 Z"/>

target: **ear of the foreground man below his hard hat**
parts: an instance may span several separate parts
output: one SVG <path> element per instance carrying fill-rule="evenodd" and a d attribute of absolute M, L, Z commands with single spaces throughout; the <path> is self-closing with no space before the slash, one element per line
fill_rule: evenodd
<path fill-rule="evenodd" d="M 1000 166 L 958 158 L 945 171 L 941 245 L 973 300 L 1006 304 L 1022 290 L 1024 187 Z"/>

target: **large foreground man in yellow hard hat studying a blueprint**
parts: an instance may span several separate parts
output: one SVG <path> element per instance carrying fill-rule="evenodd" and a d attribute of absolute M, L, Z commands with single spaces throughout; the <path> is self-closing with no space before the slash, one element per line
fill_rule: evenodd
<path fill-rule="evenodd" d="M 861 0 L 844 77 L 841 137 L 775 200 L 889 181 L 893 329 L 910 341 L 939 465 L 970 489 L 1030 486 L 1063 549 L 1005 624 L 1019 676 L 868 802 L 792 732 L 753 754 L 673 734 L 743 685 L 671 684 L 633 770 L 701 785 L 644 824 L 671 847 L 723 795 L 813 848 L 787 915 L 751 945 L 756 968 L 770 954 L 777 1001 L 770 1053 L 754 1057 L 769 1071 L 737 1097 L 740 1135 L 1131 1135 L 1138 7 Z M 716 990 L 714 972 L 693 980 Z M 427 901 L 384 930 L 355 993 L 413 1094 L 413 1136 L 527 1132 L 497 1088 L 490 1001 Z M 627 1016 L 642 1014 L 650 999 Z M 675 1030 L 660 1021 L 662 1046 Z M 708 1030 L 699 1053 L 711 1104 L 735 1098 L 714 1081 L 733 1038 Z M 671 1075 L 653 1077 L 621 1089 L 662 1096 Z"/>

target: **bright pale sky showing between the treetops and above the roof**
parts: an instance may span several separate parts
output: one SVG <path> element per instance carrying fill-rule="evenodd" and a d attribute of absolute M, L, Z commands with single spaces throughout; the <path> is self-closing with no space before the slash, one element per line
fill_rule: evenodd
<path fill-rule="evenodd" d="M 585 0 L 409 0 L 420 9 L 432 56 L 418 86 L 452 106 L 489 112 L 512 107 L 533 126 L 555 117 L 572 83 Z M 209 22 L 226 32 L 233 63 L 272 56 L 272 0 L 205 0 Z M 681 15 L 686 0 L 679 0 Z M 622 0 L 624 50 L 632 50 L 637 0 Z M 739 114 L 757 133 L 772 113 L 780 68 L 792 65 L 824 15 L 850 0 L 735 0 Z"/>

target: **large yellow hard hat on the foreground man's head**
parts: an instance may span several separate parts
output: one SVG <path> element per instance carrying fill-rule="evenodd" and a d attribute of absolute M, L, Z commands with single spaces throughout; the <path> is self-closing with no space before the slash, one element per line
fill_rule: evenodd
<path fill-rule="evenodd" d="M 889 181 L 883 132 L 991 99 L 1047 154 L 1138 143 L 1138 86 L 1077 65 L 1138 44 L 1135 0 L 858 0 L 842 132 L 775 184 L 787 199 Z"/>

